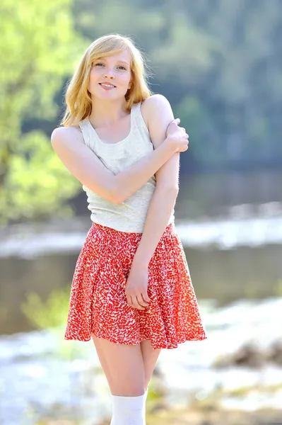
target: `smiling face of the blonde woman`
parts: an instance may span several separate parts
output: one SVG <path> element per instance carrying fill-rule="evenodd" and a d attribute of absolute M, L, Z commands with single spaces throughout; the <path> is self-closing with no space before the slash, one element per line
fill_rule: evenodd
<path fill-rule="evenodd" d="M 128 50 L 95 60 L 88 84 L 90 94 L 102 100 L 124 97 L 131 85 L 130 61 Z"/>

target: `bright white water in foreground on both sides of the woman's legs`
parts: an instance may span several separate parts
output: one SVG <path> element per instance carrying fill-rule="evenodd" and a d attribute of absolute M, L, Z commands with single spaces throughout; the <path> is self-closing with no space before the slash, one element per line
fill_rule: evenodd
<path fill-rule="evenodd" d="M 206 302 L 200 308 L 208 339 L 160 353 L 158 370 L 168 387 L 168 404 L 204 399 L 221 388 L 226 394 L 223 405 L 245 410 L 280 407 L 282 368 L 271 356 L 274 343 L 281 340 L 282 297 L 242 300 L 220 308 Z M 57 329 L 57 333 L 35 331 L 0 338 L 1 424 L 32 425 L 61 406 L 61 414 L 82 415 L 83 424 L 98 424 L 110 415 L 110 391 L 99 372 L 93 343 L 63 341 L 63 336 L 64 329 Z M 249 368 L 230 361 L 220 367 L 220 361 L 231 359 L 247 344 L 259 353 L 261 363 Z M 280 390 L 267 392 L 271 386 Z M 260 391 L 256 397 L 253 391 L 243 399 L 230 397 L 230 391 L 242 387 Z"/>

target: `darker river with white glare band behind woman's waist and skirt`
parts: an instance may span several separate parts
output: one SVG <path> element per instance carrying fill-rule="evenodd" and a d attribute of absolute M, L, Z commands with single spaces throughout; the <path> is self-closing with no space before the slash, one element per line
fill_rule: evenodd
<path fill-rule="evenodd" d="M 276 171 L 182 177 L 176 227 L 199 299 L 226 305 L 282 292 L 281 178 Z M 88 214 L 1 229 L 0 334 L 32 329 L 20 309 L 28 293 L 46 300 L 71 285 L 90 225 Z"/>

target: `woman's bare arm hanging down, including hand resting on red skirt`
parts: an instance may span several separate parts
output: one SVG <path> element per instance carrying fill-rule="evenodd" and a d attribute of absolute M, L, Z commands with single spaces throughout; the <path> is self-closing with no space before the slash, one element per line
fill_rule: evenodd
<path fill-rule="evenodd" d="M 166 135 L 168 124 L 173 119 L 172 109 L 168 100 L 161 95 L 146 99 L 145 113 L 148 111 L 148 122 L 151 140 L 156 149 L 160 149 Z M 169 131 L 170 132 L 170 131 Z M 187 135 L 184 129 L 172 128 L 174 136 Z M 188 140 L 186 140 L 188 144 Z M 178 193 L 179 157 L 177 152 L 172 155 L 157 172 L 157 185 L 148 208 L 145 227 L 141 240 L 134 254 L 129 276 L 127 278 L 126 295 L 131 307 L 145 310 L 151 302 L 148 297 L 148 265 L 168 225 L 172 209 Z"/>

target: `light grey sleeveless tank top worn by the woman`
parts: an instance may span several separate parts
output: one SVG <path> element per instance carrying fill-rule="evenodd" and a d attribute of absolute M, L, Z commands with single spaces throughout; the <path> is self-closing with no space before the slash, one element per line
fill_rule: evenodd
<path fill-rule="evenodd" d="M 100 140 L 88 117 L 78 123 L 85 144 L 97 155 L 102 164 L 115 175 L 153 152 L 153 143 L 140 107 L 141 102 L 132 106 L 130 132 L 120 142 L 107 143 Z M 82 187 L 88 196 L 88 209 L 91 211 L 93 222 L 112 227 L 121 232 L 142 233 L 155 185 L 156 179 L 153 175 L 138 191 L 120 204 L 114 204 L 102 198 L 98 193 L 90 191 L 84 185 Z M 173 209 L 168 225 L 175 220 L 174 212 Z"/>

